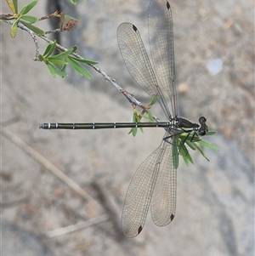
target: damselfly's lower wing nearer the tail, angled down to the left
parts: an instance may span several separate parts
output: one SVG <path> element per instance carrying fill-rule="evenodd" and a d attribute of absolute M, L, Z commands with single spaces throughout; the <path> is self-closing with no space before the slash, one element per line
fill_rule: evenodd
<path fill-rule="evenodd" d="M 170 147 L 167 144 L 162 140 L 161 145 L 144 160 L 133 175 L 122 213 L 122 231 L 127 237 L 139 235 L 144 228 L 161 160 L 171 158 Z M 170 155 L 167 156 L 165 153 Z M 166 163 L 166 160 L 164 160 L 164 163 Z M 167 168 L 165 164 L 164 167 Z"/>

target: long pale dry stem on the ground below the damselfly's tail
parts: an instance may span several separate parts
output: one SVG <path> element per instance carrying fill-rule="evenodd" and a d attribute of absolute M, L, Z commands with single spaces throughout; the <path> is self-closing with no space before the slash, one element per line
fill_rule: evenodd
<path fill-rule="evenodd" d="M 3 134 L 4 137 L 9 139 L 11 142 L 14 143 L 14 145 L 18 145 L 20 149 L 25 151 L 28 155 L 32 156 L 37 162 L 41 163 L 42 166 L 48 169 L 52 174 L 54 174 L 57 178 L 59 178 L 62 182 L 65 183 L 65 185 L 68 185 L 71 190 L 75 191 L 79 196 L 82 196 L 82 198 L 87 202 L 93 202 L 94 204 L 99 204 L 96 200 L 94 200 L 93 197 L 89 196 L 88 193 L 82 190 L 82 188 L 77 185 L 72 179 L 67 177 L 65 174 L 63 174 L 59 168 L 56 168 L 54 164 L 49 162 L 45 157 L 43 157 L 41 154 L 39 154 L 37 151 L 35 151 L 31 146 L 27 145 L 22 139 L 18 138 L 14 134 L 12 134 L 8 129 L 3 128 L 0 126 L 0 131 Z"/>

